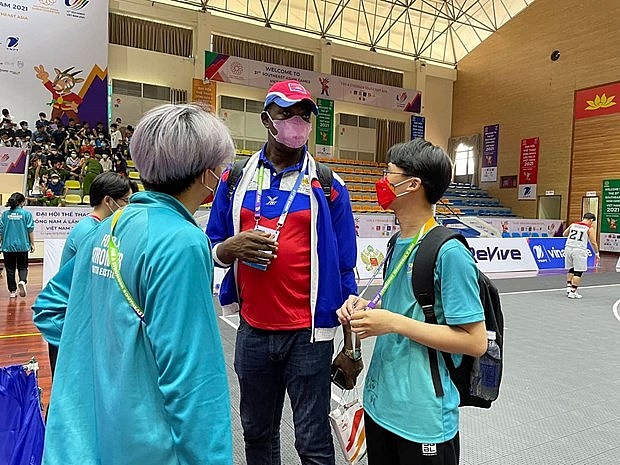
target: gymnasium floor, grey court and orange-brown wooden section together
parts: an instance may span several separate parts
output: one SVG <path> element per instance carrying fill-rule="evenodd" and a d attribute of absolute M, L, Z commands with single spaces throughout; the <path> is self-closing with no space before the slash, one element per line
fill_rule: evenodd
<path fill-rule="evenodd" d="M 562 274 L 492 276 L 502 293 L 506 320 L 504 378 L 490 410 L 461 410 L 462 465 L 620 464 L 620 274 L 613 271 L 615 260 L 608 257 L 598 272 L 585 275 L 581 300 L 566 298 Z M 32 325 L 30 309 L 41 271 L 40 265 L 31 266 L 25 299 L 9 300 L 2 279 L 0 366 L 35 356 L 47 403 L 47 349 Z M 233 370 L 237 321 L 220 318 L 219 323 L 232 396 L 234 462 L 243 464 Z M 340 338 L 336 350 L 339 343 Z M 372 346 L 372 340 L 364 341 L 366 364 Z M 343 396 L 349 398 L 334 390 L 334 406 Z M 281 436 L 282 463 L 299 463 L 288 404 Z M 338 456 L 337 463 L 345 462 Z"/>

